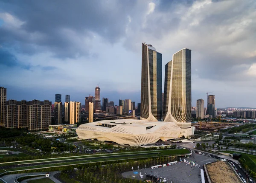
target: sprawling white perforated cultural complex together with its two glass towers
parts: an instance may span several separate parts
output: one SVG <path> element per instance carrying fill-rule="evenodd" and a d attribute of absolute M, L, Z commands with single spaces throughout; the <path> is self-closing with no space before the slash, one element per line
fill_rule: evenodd
<path fill-rule="evenodd" d="M 142 146 L 159 139 L 189 137 L 191 127 L 191 50 L 184 48 L 165 66 L 162 118 L 162 54 L 142 44 L 141 120 L 104 120 L 80 125 L 81 139 Z"/>

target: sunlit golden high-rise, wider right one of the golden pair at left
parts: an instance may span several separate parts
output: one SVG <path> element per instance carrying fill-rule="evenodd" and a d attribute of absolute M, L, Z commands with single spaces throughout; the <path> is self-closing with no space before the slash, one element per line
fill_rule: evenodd
<path fill-rule="evenodd" d="M 78 101 L 70 101 L 69 105 L 69 123 L 76 124 L 80 122 L 81 103 Z"/>

